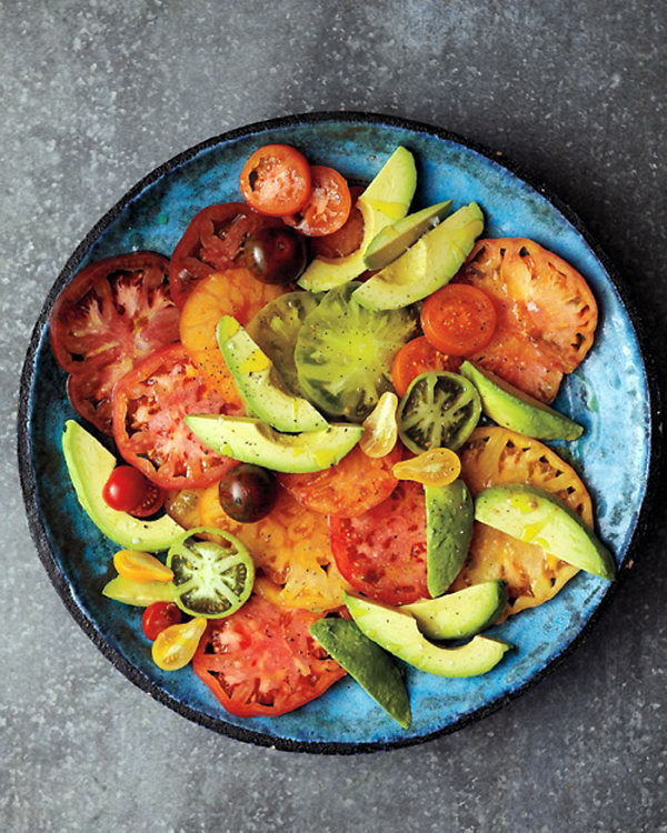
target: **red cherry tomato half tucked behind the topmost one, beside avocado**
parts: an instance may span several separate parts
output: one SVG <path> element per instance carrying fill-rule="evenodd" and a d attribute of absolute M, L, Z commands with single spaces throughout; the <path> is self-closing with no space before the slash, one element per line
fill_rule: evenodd
<path fill-rule="evenodd" d="M 310 199 L 298 213 L 287 214 L 282 219 L 301 234 L 319 238 L 332 234 L 345 225 L 352 208 L 352 198 L 345 177 L 334 168 L 313 164 L 310 173 Z"/>

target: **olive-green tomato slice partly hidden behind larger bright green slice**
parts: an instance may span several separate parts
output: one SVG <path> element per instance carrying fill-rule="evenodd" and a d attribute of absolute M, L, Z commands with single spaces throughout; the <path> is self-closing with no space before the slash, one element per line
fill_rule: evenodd
<path fill-rule="evenodd" d="M 295 345 L 303 319 L 318 305 L 321 295 L 287 292 L 269 301 L 246 328 L 250 338 L 278 368 L 280 378 L 295 397 L 300 397 L 295 364 Z"/>

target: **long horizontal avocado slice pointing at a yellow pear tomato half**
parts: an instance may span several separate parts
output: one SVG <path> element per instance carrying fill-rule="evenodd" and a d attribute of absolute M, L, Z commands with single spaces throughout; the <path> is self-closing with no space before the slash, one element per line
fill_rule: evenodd
<path fill-rule="evenodd" d="M 281 434 L 249 416 L 189 414 L 185 420 L 190 431 L 219 454 L 299 474 L 336 465 L 364 435 L 361 425 L 346 423 L 308 433 Z"/>

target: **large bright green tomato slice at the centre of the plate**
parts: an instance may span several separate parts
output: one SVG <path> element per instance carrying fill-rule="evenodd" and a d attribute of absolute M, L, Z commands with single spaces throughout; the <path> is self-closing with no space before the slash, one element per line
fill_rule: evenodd
<path fill-rule="evenodd" d="M 295 361 L 303 394 L 331 416 L 362 422 L 391 384 L 391 360 L 417 332 L 414 309 L 367 310 L 361 284 L 330 290 L 306 317 Z"/>

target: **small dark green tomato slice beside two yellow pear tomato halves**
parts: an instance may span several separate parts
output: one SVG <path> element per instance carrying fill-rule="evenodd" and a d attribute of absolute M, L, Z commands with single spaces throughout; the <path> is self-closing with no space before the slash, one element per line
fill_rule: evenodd
<path fill-rule="evenodd" d="M 475 385 L 457 373 L 429 371 L 410 383 L 398 407 L 398 433 L 415 454 L 458 449 L 475 430 L 481 402 Z"/>

